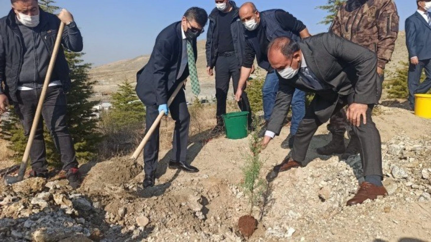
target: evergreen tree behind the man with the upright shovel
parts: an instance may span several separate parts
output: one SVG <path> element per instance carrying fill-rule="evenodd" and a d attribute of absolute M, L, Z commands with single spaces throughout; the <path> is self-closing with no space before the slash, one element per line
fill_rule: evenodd
<path fill-rule="evenodd" d="M 47 12 L 53 12 L 59 7 L 53 6 L 53 0 L 39 0 L 39 5 Z M 97 103 L 89 98 L 94 94 L 94 82 L 88 78 L 91 64 L 85 64 L 81 57 L 84 53 L 72 53 L 65 50 L 66 60 L 70 67 L 72 87 L 67 93 L 68 125 L 75 144 L 76 157 L 80 162 L 86 162 L 96 156 L 97 143 L 101 134 L 97 132 L 97 120 L 93 119 L 93 106 Z M 13 112 L 13 111 L 12 111 Z M 24 136 L 18 117 L 14 116 L 9 122 L 2 124 L 2 137 L 11 141 L 11 149 L 21 155 L 24 153 L 27 138 Z M 45 130 L 46 131 L 46 130 Z M 53 139 L 45 132 L 47 146 L 47 160 L 54 165 L 59 164 L 60 156 Z"/>

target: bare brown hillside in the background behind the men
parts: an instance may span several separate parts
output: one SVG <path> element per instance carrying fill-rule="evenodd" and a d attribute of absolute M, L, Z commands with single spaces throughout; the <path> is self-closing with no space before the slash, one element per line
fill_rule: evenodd
<path fill-rule="evenodd" d="M 210 77 L 206 74 L 206 57 L 205 57 L 205 40 L 198 42 L 198 57 L 197 57 L 197 71 L 201 84 L 200 97 L 214 97 L 215 96 L 215 80 L 214 76 Z M 145 64 L 147 64 L 150 55 L 141 55 L 129 60 L 120 60 L 110 64 L 99 67 L 94 67 L 90 71 L 90 78 L 97 81 L 94 86 L 97 100 L 109 100 L 110 94 L 117 90 L 117 85 L 123 80 L 128 79 L 133 84 L 136 83 L 136 73 Z M 386 77 L 390 77 L 391 73 L 395 71 L 400 61 L 408 61 L 408 54 L 406 48 L 406 33 L 401 31 L 398 35 L 392 61 L 387 65 Z M 190 84 L 188 84 L 190 85 Z M 190 100 L 193 95 L 189 93 L 191 88 L 187 88 L 187 100 Z M 230 86 L 232 93 L 232 86 Z"/>

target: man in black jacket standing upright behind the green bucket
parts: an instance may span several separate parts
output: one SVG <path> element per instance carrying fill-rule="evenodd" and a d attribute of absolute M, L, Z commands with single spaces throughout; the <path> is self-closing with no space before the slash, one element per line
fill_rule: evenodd
<path fill-rule="evenodd" d="M 215 97 L 217 98 L 217 126 L 215 133 L 223 131 L 222 115 L 226 113 L 226 98 L 232 78 L 234 93 L 238 88 L 240 68 L 244 56 L 244 26 L 239 18 L 239 8 L 231 0 L 215 0 L 216 7 L 209 15 L 206 36 L 206 62 L 209 76 L 215 67 Z M 245 87 L 244 87 L 245 88 Z M 243 88 L 243 89 L 244 89 Z M 238 106 L 249 112 L 248 125 L 252 128 L 252 115 L 247 93 L 243 92 Z"/>

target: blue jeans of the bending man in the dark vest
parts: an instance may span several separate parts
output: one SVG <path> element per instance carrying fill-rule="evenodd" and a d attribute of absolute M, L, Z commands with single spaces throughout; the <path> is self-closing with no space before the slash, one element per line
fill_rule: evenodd
<path fill-rule="evenodd" d="M 278 76 L 277 73 L 272 72 L 266 75 L 265 83 L 262 88 L 263 97 L 263 118 L 269 121 L 272 115 L 272 110 L 275 105 L 275 97 L 278 92 Z M 299 123 L 305 116 L 305 92 L 298 89 L 295 90 L 292 98 L 292 122 L 290 125 L 290 134 L 295 135 Z"/>

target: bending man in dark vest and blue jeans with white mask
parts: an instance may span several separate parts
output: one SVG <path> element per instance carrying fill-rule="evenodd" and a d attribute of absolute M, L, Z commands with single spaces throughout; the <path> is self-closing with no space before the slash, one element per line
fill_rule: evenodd
<path fill-rule="evenodd" d="M 293 15 L 281 9 L 259 12 L 253 3 L 244 3 L 240 8 L 240 18 L 246 27 L 247 43 L 241 67 L 240 82 L 235 99 L 240 100 L 243 87 L 250 77 L 251 67 L 256 57 L 259 67 L 268 71 L 262 88 L 265 125 L 271 118 L 278 91 L 278 76 L 268 62 L 268 45 L 272 39 L 288 36 L 296 41 L 309 37 L 306 26 Z M 296 90 L 292 100 L 292 122 L 287 145 L 292 147 L 298 125 L 305 115 L 305 92 Z M 265 129 L 262 129 L 265 130 Z M 284 147 L 287 148 L 287 147 Z"/>

